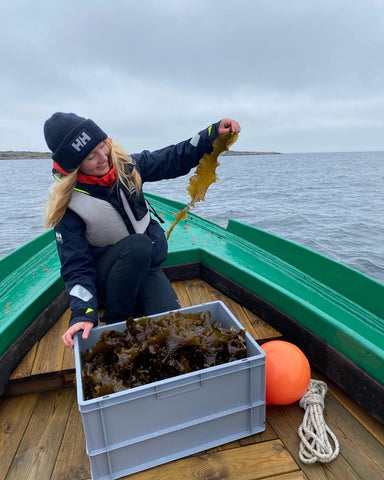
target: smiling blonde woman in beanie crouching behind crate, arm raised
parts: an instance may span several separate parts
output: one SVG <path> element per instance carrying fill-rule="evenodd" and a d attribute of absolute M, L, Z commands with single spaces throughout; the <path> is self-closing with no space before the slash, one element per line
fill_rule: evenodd
<path fill-rule="evenodd" d="M 99 306 L 105 307 L 107 324 L 179 308 L 160 268 L 167 241 L 142 184 L 186 175 L 212 151 L 213 140 L 228 132 L 239 133 L 240 125 L 225 118 L 189 140 L 129 156 L 90 119 L 57 112 L 45 122 L 58 181 L 46 226 L 54 227 L 70 298 L 72 315 L 62 337 L 67 347 L 73 348 L 81 330 L 88 338 Z"/>

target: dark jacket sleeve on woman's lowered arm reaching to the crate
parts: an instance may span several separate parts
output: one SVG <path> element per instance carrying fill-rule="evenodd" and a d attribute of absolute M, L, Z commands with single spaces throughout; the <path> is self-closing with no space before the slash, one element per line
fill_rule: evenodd
<path fill-rule="evenodd" d="M 70 326 L 83 321 L 98 323 L 96 267 L 84 229 L 84 222 L 70 209 L 55 227 L 61 276 L 72 310 Z"/>

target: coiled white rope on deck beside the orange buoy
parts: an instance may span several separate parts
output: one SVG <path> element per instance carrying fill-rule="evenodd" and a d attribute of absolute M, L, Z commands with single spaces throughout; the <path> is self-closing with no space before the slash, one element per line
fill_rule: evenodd
<path fill-rule="evenodd" d="M 327 390 L 326 383 L 311 379 L 307 392 L 299 402 L 305 410 L 303 423 L 299 427 L 299 457 L 306 464 L 331 462 L 340 452 L 336 435 L 325 423 L 323 416 Z"/>

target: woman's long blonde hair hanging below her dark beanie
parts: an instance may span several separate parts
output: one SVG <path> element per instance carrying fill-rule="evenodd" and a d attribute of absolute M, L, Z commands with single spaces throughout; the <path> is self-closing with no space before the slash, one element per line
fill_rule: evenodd
<path fill-rule="evenodd" d="M 104 142 L 109 148 L 109 158 L 112 166 L 115 167 L 117 181 L 128 191 L 135 189 L 136 193 L 140 194 L 142 186 L 140 173 L 136 168 L 127 167 L 134 164 L 132 157 L 122 147 L 112 143 L 111 139 L 108 138 Z M 55 176 L 59 181 L 49 195 L 45 218 L 46 228 L 55 227 L 63 218 L 76 187 L 78 171 L 79 168 L 68 175 Z"/>

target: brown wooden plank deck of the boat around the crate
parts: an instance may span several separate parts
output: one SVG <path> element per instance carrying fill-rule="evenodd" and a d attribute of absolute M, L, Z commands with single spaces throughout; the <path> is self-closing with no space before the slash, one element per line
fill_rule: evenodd
<path fill-rule="evenodd" d="M 207 283 L 175 282 L 182 307 L 223 300 L 259 343 L 279 332 Z M 61 342 L 66 312 L 12 375 L 0 398 L 0 480 L 90 480 L 81 415 L 74 388 L 73 352 Z M 313 377 L 320 378 L 316 372 Z M 304 465 L 298 457 L 298 404 L 267 407 L 260 434 L 130 475 L 129 480 L 384 480 L 384 425 L 349 400 L 332 382 L 327 424 L 341 447 L 330 464 Z"/>

